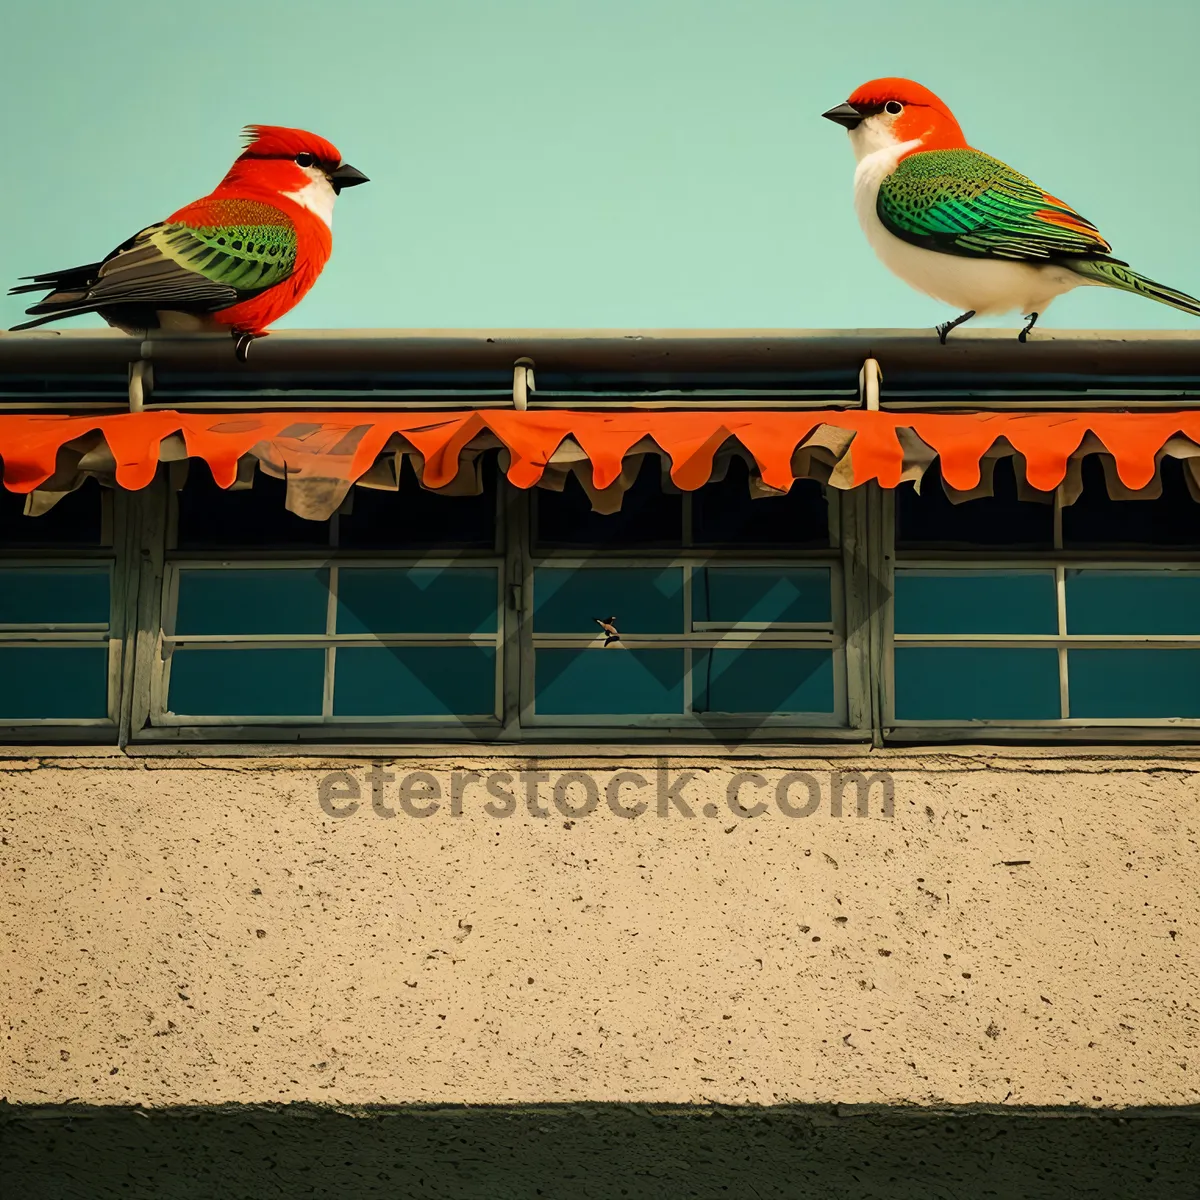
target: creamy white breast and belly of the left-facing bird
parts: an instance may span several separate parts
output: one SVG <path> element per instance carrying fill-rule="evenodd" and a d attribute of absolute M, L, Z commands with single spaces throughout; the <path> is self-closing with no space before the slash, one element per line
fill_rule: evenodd
<path fill-rule="evenodd" d="M 1003 259 L 966 258 L 913 246 L 889 233 L 876 203 L 880 185 L 920 142 L 902 142 L 865 154 L 854 172 L 854 211 L 883 265 L 910 287 L 960 312 L 980 316 L 1044 312 L 1055 296 L 1086 282 L 1066 268 Z"/>

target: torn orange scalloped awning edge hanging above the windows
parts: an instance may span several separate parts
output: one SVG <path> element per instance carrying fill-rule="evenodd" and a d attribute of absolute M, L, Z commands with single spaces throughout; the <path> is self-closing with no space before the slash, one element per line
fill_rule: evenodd
<path fill-rule="evenodd" d="M 643 456 L 658 455 L 668 486 L 692 491 L 724 475 L 739 455 L 754 496 L 778 496 L 794 479 L 838 488 L 869 480 L 918 487 L 938 461 L 953 500 L 991 494 L 996 460 L 1014 456 L 1022 496 L 1049 500 L 1060 486 L 1072 503 L 1082 458 L 1100 455 L 1109 494 L 1160 493 L 1159 462 L 1184 461 L 1200 499 L 1200 413 L 886 412 L 535 412 L 463 413 L 122 413 L 112 416 L 0 415 L 0 460 L 26 511 L 47 511 L 95 476 L 137 490 L 160 463 L 176 482 L 204 460 L 222 487 L 250 486 L 254 469 L 288 484 L 287 506 L 324 520 L 349 488 L 395 488 L 408 457 L 421 486 L 469 494 L 488 451 L 518 487 L 560 490 L 574 474 L 593 506 L 616 511 Z"/>

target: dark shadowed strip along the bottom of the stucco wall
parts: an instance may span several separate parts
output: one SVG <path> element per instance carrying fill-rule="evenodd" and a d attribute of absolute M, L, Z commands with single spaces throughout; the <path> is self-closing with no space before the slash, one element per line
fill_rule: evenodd
<path fill-rule="evenodd" d="M 1181 1200 L 1200 1109 L 0 1103 L 22 1200 Z"/>

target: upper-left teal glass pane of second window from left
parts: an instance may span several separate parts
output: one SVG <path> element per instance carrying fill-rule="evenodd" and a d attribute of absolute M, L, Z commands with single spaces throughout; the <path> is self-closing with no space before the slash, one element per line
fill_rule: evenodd
<path fill-rule="evenodd" d="M 181 570 L 176 634 L 324 634 L 329 571 Z"/>

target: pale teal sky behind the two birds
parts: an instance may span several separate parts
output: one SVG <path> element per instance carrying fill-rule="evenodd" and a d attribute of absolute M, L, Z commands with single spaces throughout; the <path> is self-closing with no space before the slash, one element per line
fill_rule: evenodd
<path fill-rule="evenodd" d="M 954 314 L 876 262 L 820 118 L 904 74 L 1200 294 L 1198 44 L 1195 0 L 5 5 L 0 275 L 101 257 L 210 191 L 260 122 L 372 179 L 280 329 L 931 325 Z M 1099 288 L 1042 324 L 1200 328 Z"/>

